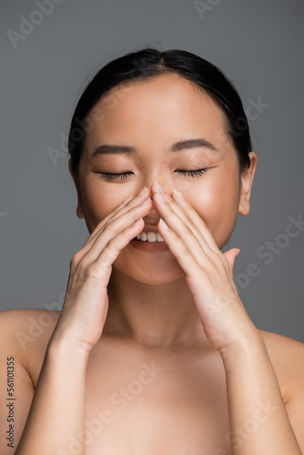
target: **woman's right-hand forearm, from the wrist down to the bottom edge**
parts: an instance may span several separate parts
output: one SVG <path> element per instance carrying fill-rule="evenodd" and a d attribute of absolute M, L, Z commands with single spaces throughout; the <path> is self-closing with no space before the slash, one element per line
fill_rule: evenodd
<path fill-rule="evenodd" d="M 221 356 L 231 455 L 302 455 L 263 339 L 257 334 Z"/>

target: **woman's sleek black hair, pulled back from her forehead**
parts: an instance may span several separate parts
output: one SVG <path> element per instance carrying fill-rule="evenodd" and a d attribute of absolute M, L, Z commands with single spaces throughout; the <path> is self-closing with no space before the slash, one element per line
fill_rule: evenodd
<path fill-rule="evenodd" d="M 79 160 L 88 130 L 88 117 L 97 101 L 118 85 L 132 84 L 165 74 L 177 74 L 208 94 L 225 114 L 228 136 L 237 151 L 240 170 L 250 165 L 252 149 L 248 119 L 238 91 L 228 77 L 200 56 L 178 49 L 158 51 L 147 47 L 129 52 L 103 66 L 88 83 L 76 105 L 69 136 L 68 152 L 73 174 L 78 174 Z"/>

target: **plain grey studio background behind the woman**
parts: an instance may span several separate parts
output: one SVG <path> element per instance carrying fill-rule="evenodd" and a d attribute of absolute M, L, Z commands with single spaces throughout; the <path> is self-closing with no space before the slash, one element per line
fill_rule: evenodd
<path fill-rule="evenodd" d="M 39 22 L 38 8 L 34 1 L 1 2 L 0 308 L 60 308 L 69 261 L 88 237 L 60 141 L 96 67 L 154 45 L 219 66 L 245 108 L 258 97 L 269 105 L 250 111 L 258 170 L 250 214 L 238 217 L 229 246 L 241 250 L 235 277 L 249 263 L 258 269 L 239 286 L 253 322 L 304 341 L 304 230 L 276 247 L 269 265 L 257 255 L 267 241 L 282 240 L 289 216 L 304 217 L 304 2 L 205 0 L 202 17 L 193 1 L 57 2 L 16 48 L 7 30 L 20 33 L 21 15 Z M 61 147 L 56 166 L 49 147 Z"/>

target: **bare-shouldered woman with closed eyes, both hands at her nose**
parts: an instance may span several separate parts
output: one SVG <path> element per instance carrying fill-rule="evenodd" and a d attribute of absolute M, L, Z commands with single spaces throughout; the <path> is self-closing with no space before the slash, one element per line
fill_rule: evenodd
<path fill-rule="evenodd" d="M 238 248 L 221 252 L 257 166 L 226 76 L 180 50 L 119 57 L 80 97 L 69 151 L 90 236 L 63 308 L 26 349 L 10 327 L 49 313 L 1 317 L 15 454 L 300 455 L 304 346 L 255 327 Z"/>

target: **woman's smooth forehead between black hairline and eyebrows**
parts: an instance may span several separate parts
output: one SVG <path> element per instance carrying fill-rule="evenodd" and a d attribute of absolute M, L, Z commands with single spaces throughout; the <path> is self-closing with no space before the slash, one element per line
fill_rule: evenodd
<path fill-rule="evenodd" d="M 182 138 L 204 136 L 216 147 L 227 140 L 225 116 L 199 87 L 176 74 L 121 84 L 100 99 L 89 114 L 93 127 L 86 146 L 101 142 L 152 141 L 164 146 Z M 90 148 L 91 148 L 90 147 Z"/>

